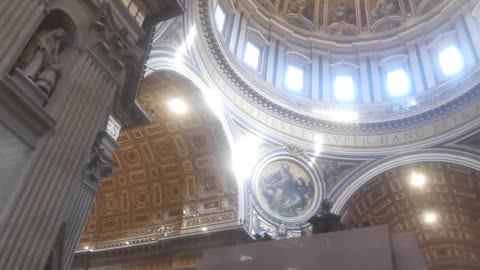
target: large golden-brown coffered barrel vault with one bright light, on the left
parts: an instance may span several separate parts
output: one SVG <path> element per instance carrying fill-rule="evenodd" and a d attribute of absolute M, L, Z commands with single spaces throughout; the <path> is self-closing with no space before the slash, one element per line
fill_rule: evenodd
<path fill-rule="evenodd" d="M 121 132 L 113 156 L 119 166 L 101 181 L 80 248 L 156 241 L 236 222 L 229 146 L 202 93 L 168 72 L 150 75 L 141 89 L 139 100 L 153 122 Z"/>

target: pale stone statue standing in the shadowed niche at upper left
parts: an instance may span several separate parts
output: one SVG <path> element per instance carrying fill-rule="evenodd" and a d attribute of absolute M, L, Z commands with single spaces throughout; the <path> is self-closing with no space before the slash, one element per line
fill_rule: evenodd
<path fill-rule="evenodd" d="M 60 45 L 65 39 L 65 30 L 40 31 L 28 44 L 20 57 L 18 67 L 47 95 L 50 95 L 60 68 Z"/>

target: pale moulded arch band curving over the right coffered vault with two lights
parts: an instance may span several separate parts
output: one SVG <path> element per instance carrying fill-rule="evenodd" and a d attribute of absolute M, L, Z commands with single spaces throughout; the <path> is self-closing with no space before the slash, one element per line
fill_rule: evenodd
<path fill-rule="evenodd" d="M 340 214 L 348 199 L 375 176 L 399 166 L 419 162 L 446 162 L 480 171 L 480 159 L 477 155 L 455 149 L 429 149 L 388 157 L 365 166 L 337 185 L 329 194 L 334 201 L 332 212 Z"/>

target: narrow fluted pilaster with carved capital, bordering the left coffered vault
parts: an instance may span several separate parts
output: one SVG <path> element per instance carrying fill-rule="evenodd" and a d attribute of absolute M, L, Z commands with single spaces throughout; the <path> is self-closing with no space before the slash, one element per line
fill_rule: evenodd
<path fill-rule="evenodd" d="M 110 174 L 116 166 L 111 159 L 115 148 L 117 144 L 114 138 L 106 132 L 100 132 L 82 177 L 70 191 L 73 199 L 65 211 L 65 240 L 61 260 L 63 270 L 70 269 L 75 248 L 88 220 L 100 180 Z"/>

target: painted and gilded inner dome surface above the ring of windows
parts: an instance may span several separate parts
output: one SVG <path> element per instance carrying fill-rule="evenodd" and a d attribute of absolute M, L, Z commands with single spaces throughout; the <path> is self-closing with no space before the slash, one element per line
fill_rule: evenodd
<path fill-rule="evenodd" d="M 255 0 L 257 9 L 281 23 L 311 32 L 353 36 L 385 32 L 417 21 L 445 1 L 432 0 Z M 268 18 L 270 18 L 268 16 Z M 408 23 L 407 23 L 408 21 Z"/>

